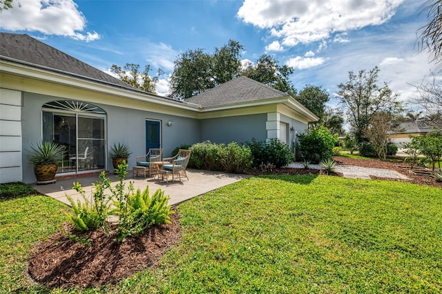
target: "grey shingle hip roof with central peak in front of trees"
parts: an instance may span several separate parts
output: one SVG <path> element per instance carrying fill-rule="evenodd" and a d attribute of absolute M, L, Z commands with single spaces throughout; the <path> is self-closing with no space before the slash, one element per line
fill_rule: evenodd
<path fill-rule="evenodd" d="M 211 107 L 288 96 L 285 92 L 241 76 L 186 99 L 186 101 L 199 104 L 202 107 Z"/>

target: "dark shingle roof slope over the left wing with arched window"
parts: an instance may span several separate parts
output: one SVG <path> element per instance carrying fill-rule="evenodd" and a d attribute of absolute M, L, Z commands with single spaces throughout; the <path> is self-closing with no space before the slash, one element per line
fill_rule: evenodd
<path fill-rule="evenodd" d="M 64 72 L 68 75 L 78 75 L 124 88 L 135 89 L 124 81 L 120 81 L 106 74 L 106 72 L 89 66 L 87 63 L 79 61 L 26 34 L 0 32 L 0 59 L 15 59 L 15 61 L 31 63 L 33 66 Z"/>

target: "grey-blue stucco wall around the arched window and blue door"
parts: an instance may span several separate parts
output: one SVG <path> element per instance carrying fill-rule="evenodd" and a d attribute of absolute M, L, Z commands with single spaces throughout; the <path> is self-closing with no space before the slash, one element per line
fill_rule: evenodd
<path fill-rule="evenodd" d="M 63 97 L 23 93 L 23 111 L 21 115 L 23 130 L 23 148 L 28 149 L 30 144 L 41 141 L 41 107 L 49 101 L 64 100 Z M 87 101 L 85 97 L 84 101 Z M 172 150 L 180 144 L 193 144 L 200 137 L 198 119 L 164 115 L 157 112 L 132 109 L 130 101 L 127 108 L 97 104 L 106 114 L 107 146 L 114 143 L 128 144 L 132 155 L 128 158 L 129 168 L 135 166 L 135 157 L 146 153 L 146 119 L 160 121 L 161 146 L 164 157 L 169 157 Z M 167 121 L 173 121 L 172 126 L 166 126 Z M 23 155 L 23 182 L 35 182 L 32 164 L 28 163 Z M 112 170 L 112 160 L 106 160 L 107 170 Z"/>

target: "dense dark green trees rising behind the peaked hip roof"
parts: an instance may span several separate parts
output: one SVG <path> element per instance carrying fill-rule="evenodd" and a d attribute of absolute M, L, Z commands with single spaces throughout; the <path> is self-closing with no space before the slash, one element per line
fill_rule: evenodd
<path fill-rule="evenodd" d="M 270 55 L 262 55 L 255 63 L 242 66 L 240 53 L 244 47 L 229 40 L 221 48 L 215 48 L 213 54 L 198 48 L 187 50 L 177 57 L 169 86 L 175 99 L 187 99 L 200 92 L 209 90 L 234 77 L 244 75 L 293 97 L 296 89 L 289 80 L 293 68 L 280 66 L 278 60 Z"/>

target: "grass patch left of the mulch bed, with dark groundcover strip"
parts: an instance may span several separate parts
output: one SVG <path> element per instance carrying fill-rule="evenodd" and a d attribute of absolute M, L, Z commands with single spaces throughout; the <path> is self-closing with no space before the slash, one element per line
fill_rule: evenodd
<path fill-rule="evenodd" d="M 8 195 L 0 199 L 0 293 L 10 293 L 28 285 L 24 272 L 31 247 L 66 221 L 66 205 L 46 196 L 26 196 L 33 191 L 29 185 L 1 184 L 0 191 Z"/>

